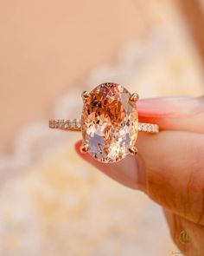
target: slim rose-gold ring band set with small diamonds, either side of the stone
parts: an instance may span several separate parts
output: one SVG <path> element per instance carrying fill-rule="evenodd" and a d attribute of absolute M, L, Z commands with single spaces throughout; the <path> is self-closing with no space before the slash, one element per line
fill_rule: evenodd
<path fill-rule="evenodd" d="M 81 124 L 79 119 L 51 119 L 49 120 L 49 128 L 57 128 L 67 131 L 81 131 Z M 138 131 L 157 134 L 159 126 L 155 123 L 138 123 Z"/>

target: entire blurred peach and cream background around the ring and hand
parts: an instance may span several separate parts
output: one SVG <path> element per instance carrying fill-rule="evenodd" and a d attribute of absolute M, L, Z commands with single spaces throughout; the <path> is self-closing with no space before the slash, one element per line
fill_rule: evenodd
<path fill-rule="evenodd" d="M 80 93 L 203 95 L 203 0 L 0 1 L 0 255 L 172 255 L 162 209 L 80 160 Z"/>

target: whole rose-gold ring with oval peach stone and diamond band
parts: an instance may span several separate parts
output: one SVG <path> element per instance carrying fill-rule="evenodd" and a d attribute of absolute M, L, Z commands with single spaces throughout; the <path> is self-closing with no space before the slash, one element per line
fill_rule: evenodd
<path fill-rule="evenodd" d="M 113 82 L 99 84 L 90 93 L 83 92 L 81 119 L 51 119 L 49 128 L 81 131 L 82 153 L 89 153 L 103 163 L 137 154 L 137 134 L 156 134 L 159 126 L 138 122 L 137 93 L 131 94 L 122 85 Z"/>

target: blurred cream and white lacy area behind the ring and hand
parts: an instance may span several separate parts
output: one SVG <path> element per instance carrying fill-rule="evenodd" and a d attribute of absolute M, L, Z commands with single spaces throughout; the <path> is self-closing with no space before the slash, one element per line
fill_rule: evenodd
<path fill-rule="evenodd" d="M 93 70 L 83 88 L 119 82 L 141 98 L 201 95 L 199 57 L 177 18 L 129 43 L 114 66 Z M 51 117 L 80 117 L 81 86 L 62 95 Z M 0 157 L 0 255 L 135 256 L 178 252 L 163 212 L 80 160 L 80 133 L 22 128 L 15 154 Z"/>

